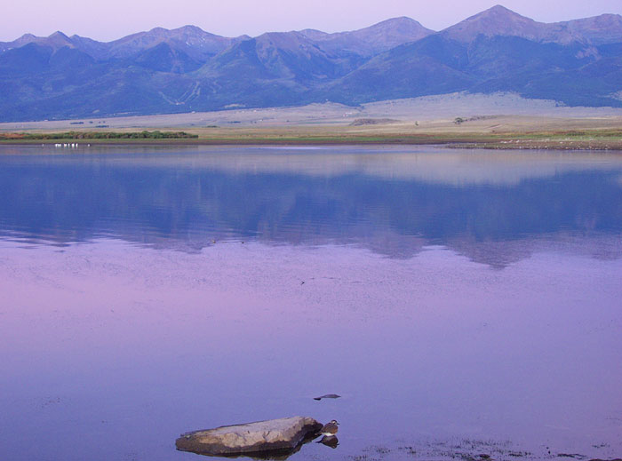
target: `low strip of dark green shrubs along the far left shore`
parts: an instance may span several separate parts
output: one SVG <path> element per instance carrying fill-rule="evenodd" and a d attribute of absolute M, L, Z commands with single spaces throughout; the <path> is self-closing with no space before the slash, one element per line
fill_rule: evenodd
<path fill-rule="evenodd" d="M 66 131 L 60 133 L 0 133 L 2 140 L 44 139 L 193 139 L 197 134 L 185 131 Z"/>

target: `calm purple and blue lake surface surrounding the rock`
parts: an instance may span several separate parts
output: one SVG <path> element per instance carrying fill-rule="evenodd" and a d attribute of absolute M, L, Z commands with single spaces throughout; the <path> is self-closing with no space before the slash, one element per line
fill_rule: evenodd
<path fill-rule="evenodd" d="M 0 459 L 622 456 L 622 153 L 72 152 L 0 147 Z"/>

